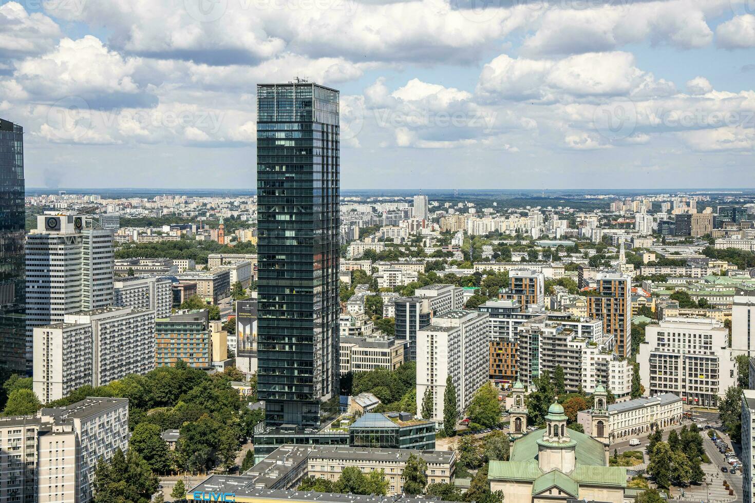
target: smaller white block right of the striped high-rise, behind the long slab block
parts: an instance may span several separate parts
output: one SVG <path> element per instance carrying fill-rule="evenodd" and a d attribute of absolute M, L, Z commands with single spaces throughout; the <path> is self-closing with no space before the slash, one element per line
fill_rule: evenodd
<path fill-rule="evenodd" d="M 113 284 L 113 304 L 137 311 L 155 311 L 156 317 L 171 315 L 173 283 L 168 278 L 126 276 Z"/>

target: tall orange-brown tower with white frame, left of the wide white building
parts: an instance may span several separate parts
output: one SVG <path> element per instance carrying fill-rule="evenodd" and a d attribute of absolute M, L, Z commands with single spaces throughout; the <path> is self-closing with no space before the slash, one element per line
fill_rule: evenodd
<path fill-rule="evenodd" d="M 587 316 L 603 322 L 603 330 L 613 336 L 616 354 L 629 357 L 632 348 L 632 283 L 630 276 L 599 272 L 595 295 L 587 296 Z"/>

